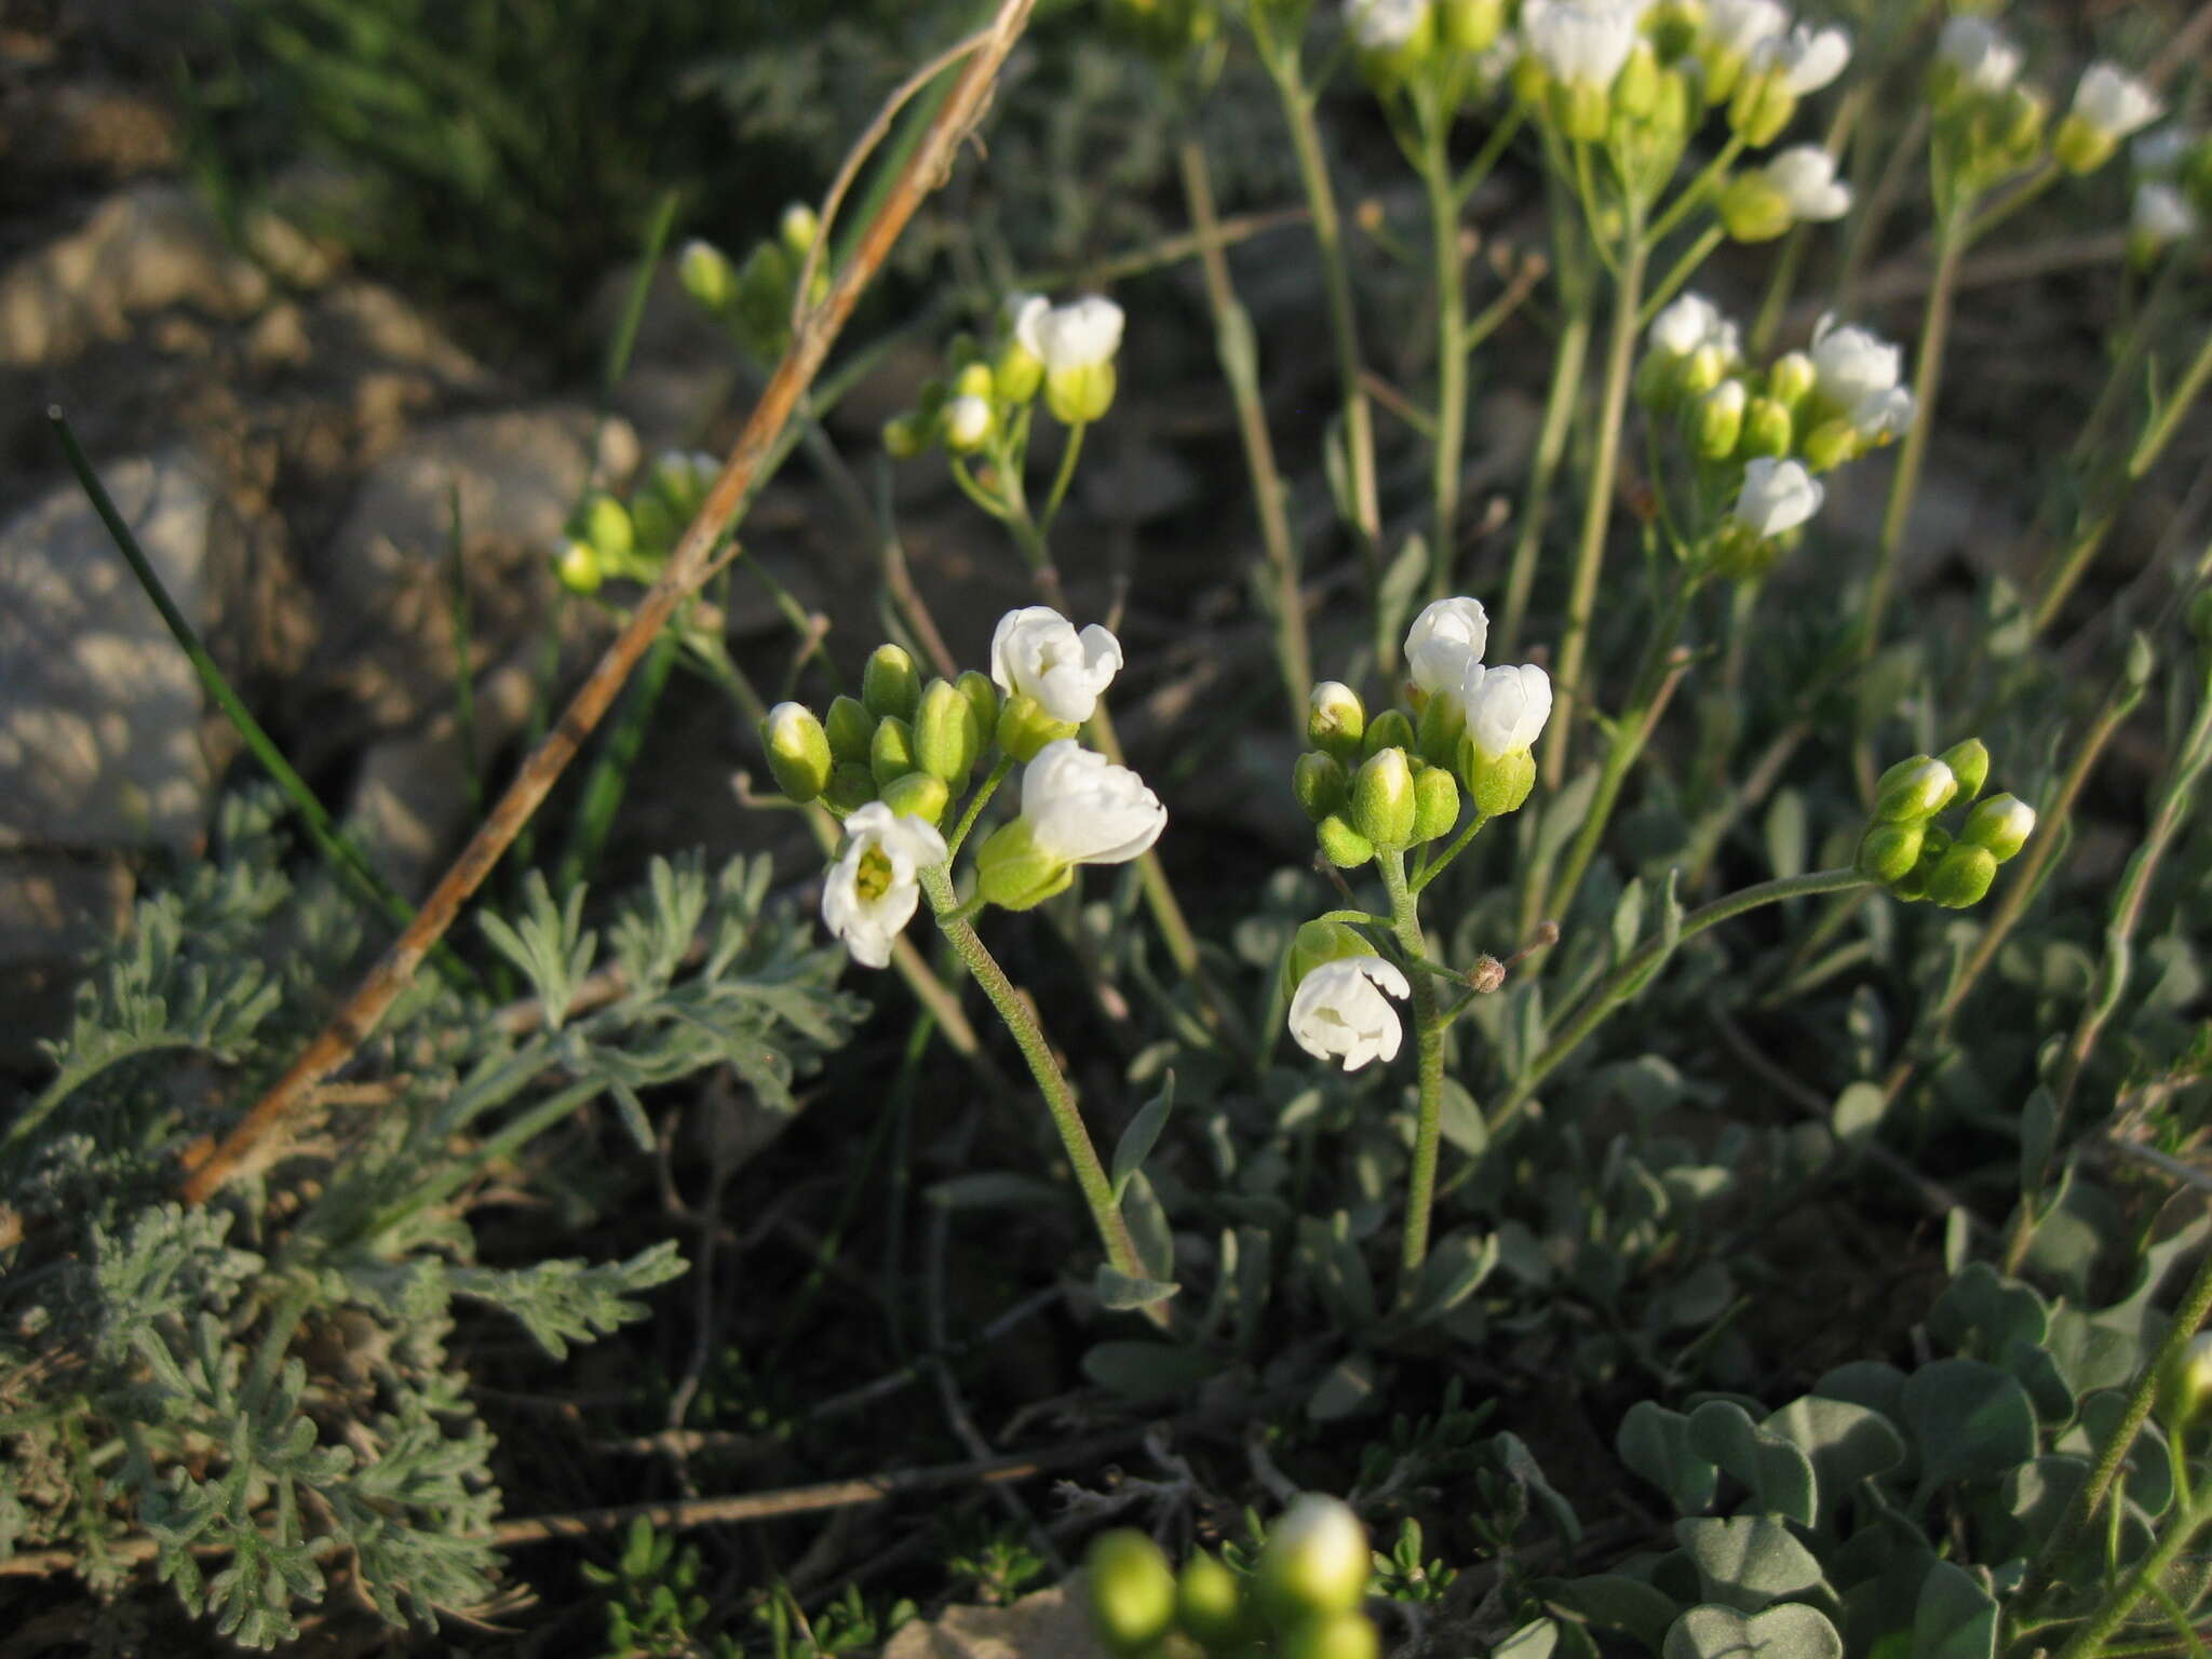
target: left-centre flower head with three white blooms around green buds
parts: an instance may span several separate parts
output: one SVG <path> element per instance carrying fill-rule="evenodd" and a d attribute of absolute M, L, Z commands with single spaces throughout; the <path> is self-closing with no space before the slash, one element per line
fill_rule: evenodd
<path fill-rule="evenodd" d="M 823 883 L 823 922 L 856 962 L 891 960 L 925 872 L 958 856 L 1015 765 L 1024 765 L 1022 810 L 975 856 L 978 902 L 1029 909 L 1062 891 L 1077 865 L 1128 863 L 1159 841 L 1168 823 L 1159 796 L 1077 741 L 1119 668 L 1121 646 L 1106 628 L 1077 633 L 1057 611 L 1029 606 L 1000 619 L 989 675 L 925 686 L 905 650 L 878 646 L 860 695 L 836 697 L 825 717 L 803 703 L 768 710 L 761 748 L 776 787 L 845 823 Z M 953 803 L 993 757 L 947 836 Z"/>

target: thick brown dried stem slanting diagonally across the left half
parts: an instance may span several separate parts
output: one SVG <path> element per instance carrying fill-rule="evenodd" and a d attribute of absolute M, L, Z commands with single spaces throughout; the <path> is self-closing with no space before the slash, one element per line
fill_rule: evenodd
<path fill-rule="evenodd" d="M 272 1155 L 281 1139 L 279 1130 L 299 1113 L 307 1093 L 345 1064 L 383 1022 L 400 991 L 414 980 L 422 958 L 447 933 L 462 905 L 498 865 L 500 854 L 529 823 L 568 761 L 575 759 L 577 748 L 606 714 L 630 670 L 659 630 L 668 626 L 677 606 L 697 593 L 721 564 L 737 557 L 734 546 L 717 553 L 723 546 L 723 533 L 763 482 L 765 462 L 776 451 L 799 398 L 821 374 L 830 345 L 852 316 L 860 290 L 874 279 L 922 197 L 949 175 L 960 144 L 982 117 L 1000 64 L 1029 22 L 1031 4 L 1033 0 L 1002 0 L 991 27 L 978 35 L 960 80 L 916 144 L 914 155 L 898 170 L 883 206 L 860 232 L 852 259 L 830 283 L 823 301 L 807 310 L 792 330 L 792 345 L 783 354 L 783 363 L 763 387 L 737 447 L 708 489 L 697 518 L 677 542 L 661 580 L 653 584 L 628 626 L 593 666 L 553 730 L 522 761 L 515 781 L 469 845 L 462 847 L 453 867 L 431 889 L 416 920 L 392 942 L 330 1024 L 307 1044 L 307 1051 L 254 1102 L 230 1135 L 219 1146 L 201 1141 L 188 1152 L 186 1177 L 179 1186 L 179 1197 L 186 1203 L 206 1203 L 250 1161 L 259 1164 Z"/>

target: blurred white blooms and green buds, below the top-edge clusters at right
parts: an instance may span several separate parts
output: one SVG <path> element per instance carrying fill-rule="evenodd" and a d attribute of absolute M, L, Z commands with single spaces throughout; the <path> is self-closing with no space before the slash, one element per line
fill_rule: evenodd
<path fill-rule="evenodd" d="M 1734 577 L 1763 575 L 1820 511 L 1820 473 L 1913 422 L 1900 347 L 1823 316 L 1807 352 L 1750 369 L 1736 325 L 1701 294 L 1652 319 L 1637 396 L 1677 416 L 1697 467 L 1683 533 Z"/>

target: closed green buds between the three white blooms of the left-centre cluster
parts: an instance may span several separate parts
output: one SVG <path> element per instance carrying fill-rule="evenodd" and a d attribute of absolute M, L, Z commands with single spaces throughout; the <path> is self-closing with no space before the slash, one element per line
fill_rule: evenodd
<path fill-rule="evenodd" d="M 849 816 L 869 801 L 938 825 L 967 792 L 1000 717 L 998 686 L 969 670 L 922 684 L 898 646 L 867 659 L 858 697 L 834 697 L 823 719 L 776 703 L 761 721 L 768 770 L 785 796 Z"/>

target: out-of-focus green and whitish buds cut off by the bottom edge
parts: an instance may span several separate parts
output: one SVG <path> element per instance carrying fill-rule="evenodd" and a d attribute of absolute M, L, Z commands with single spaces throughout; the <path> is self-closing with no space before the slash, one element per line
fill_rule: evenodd
<path fill-rule="evenodd" d="M 1360 1610 L 1371 1573 L 1360 1517 L 1307 1493 L 1267 1528 L 1250 1573 L 1208 1551 L 1177 1573 L 1150 1537 L 1117 1528 L 1091 1544 L 1086 1590 L 1117 1659 L 1378 1659 L 1380 1635 Z"/>

